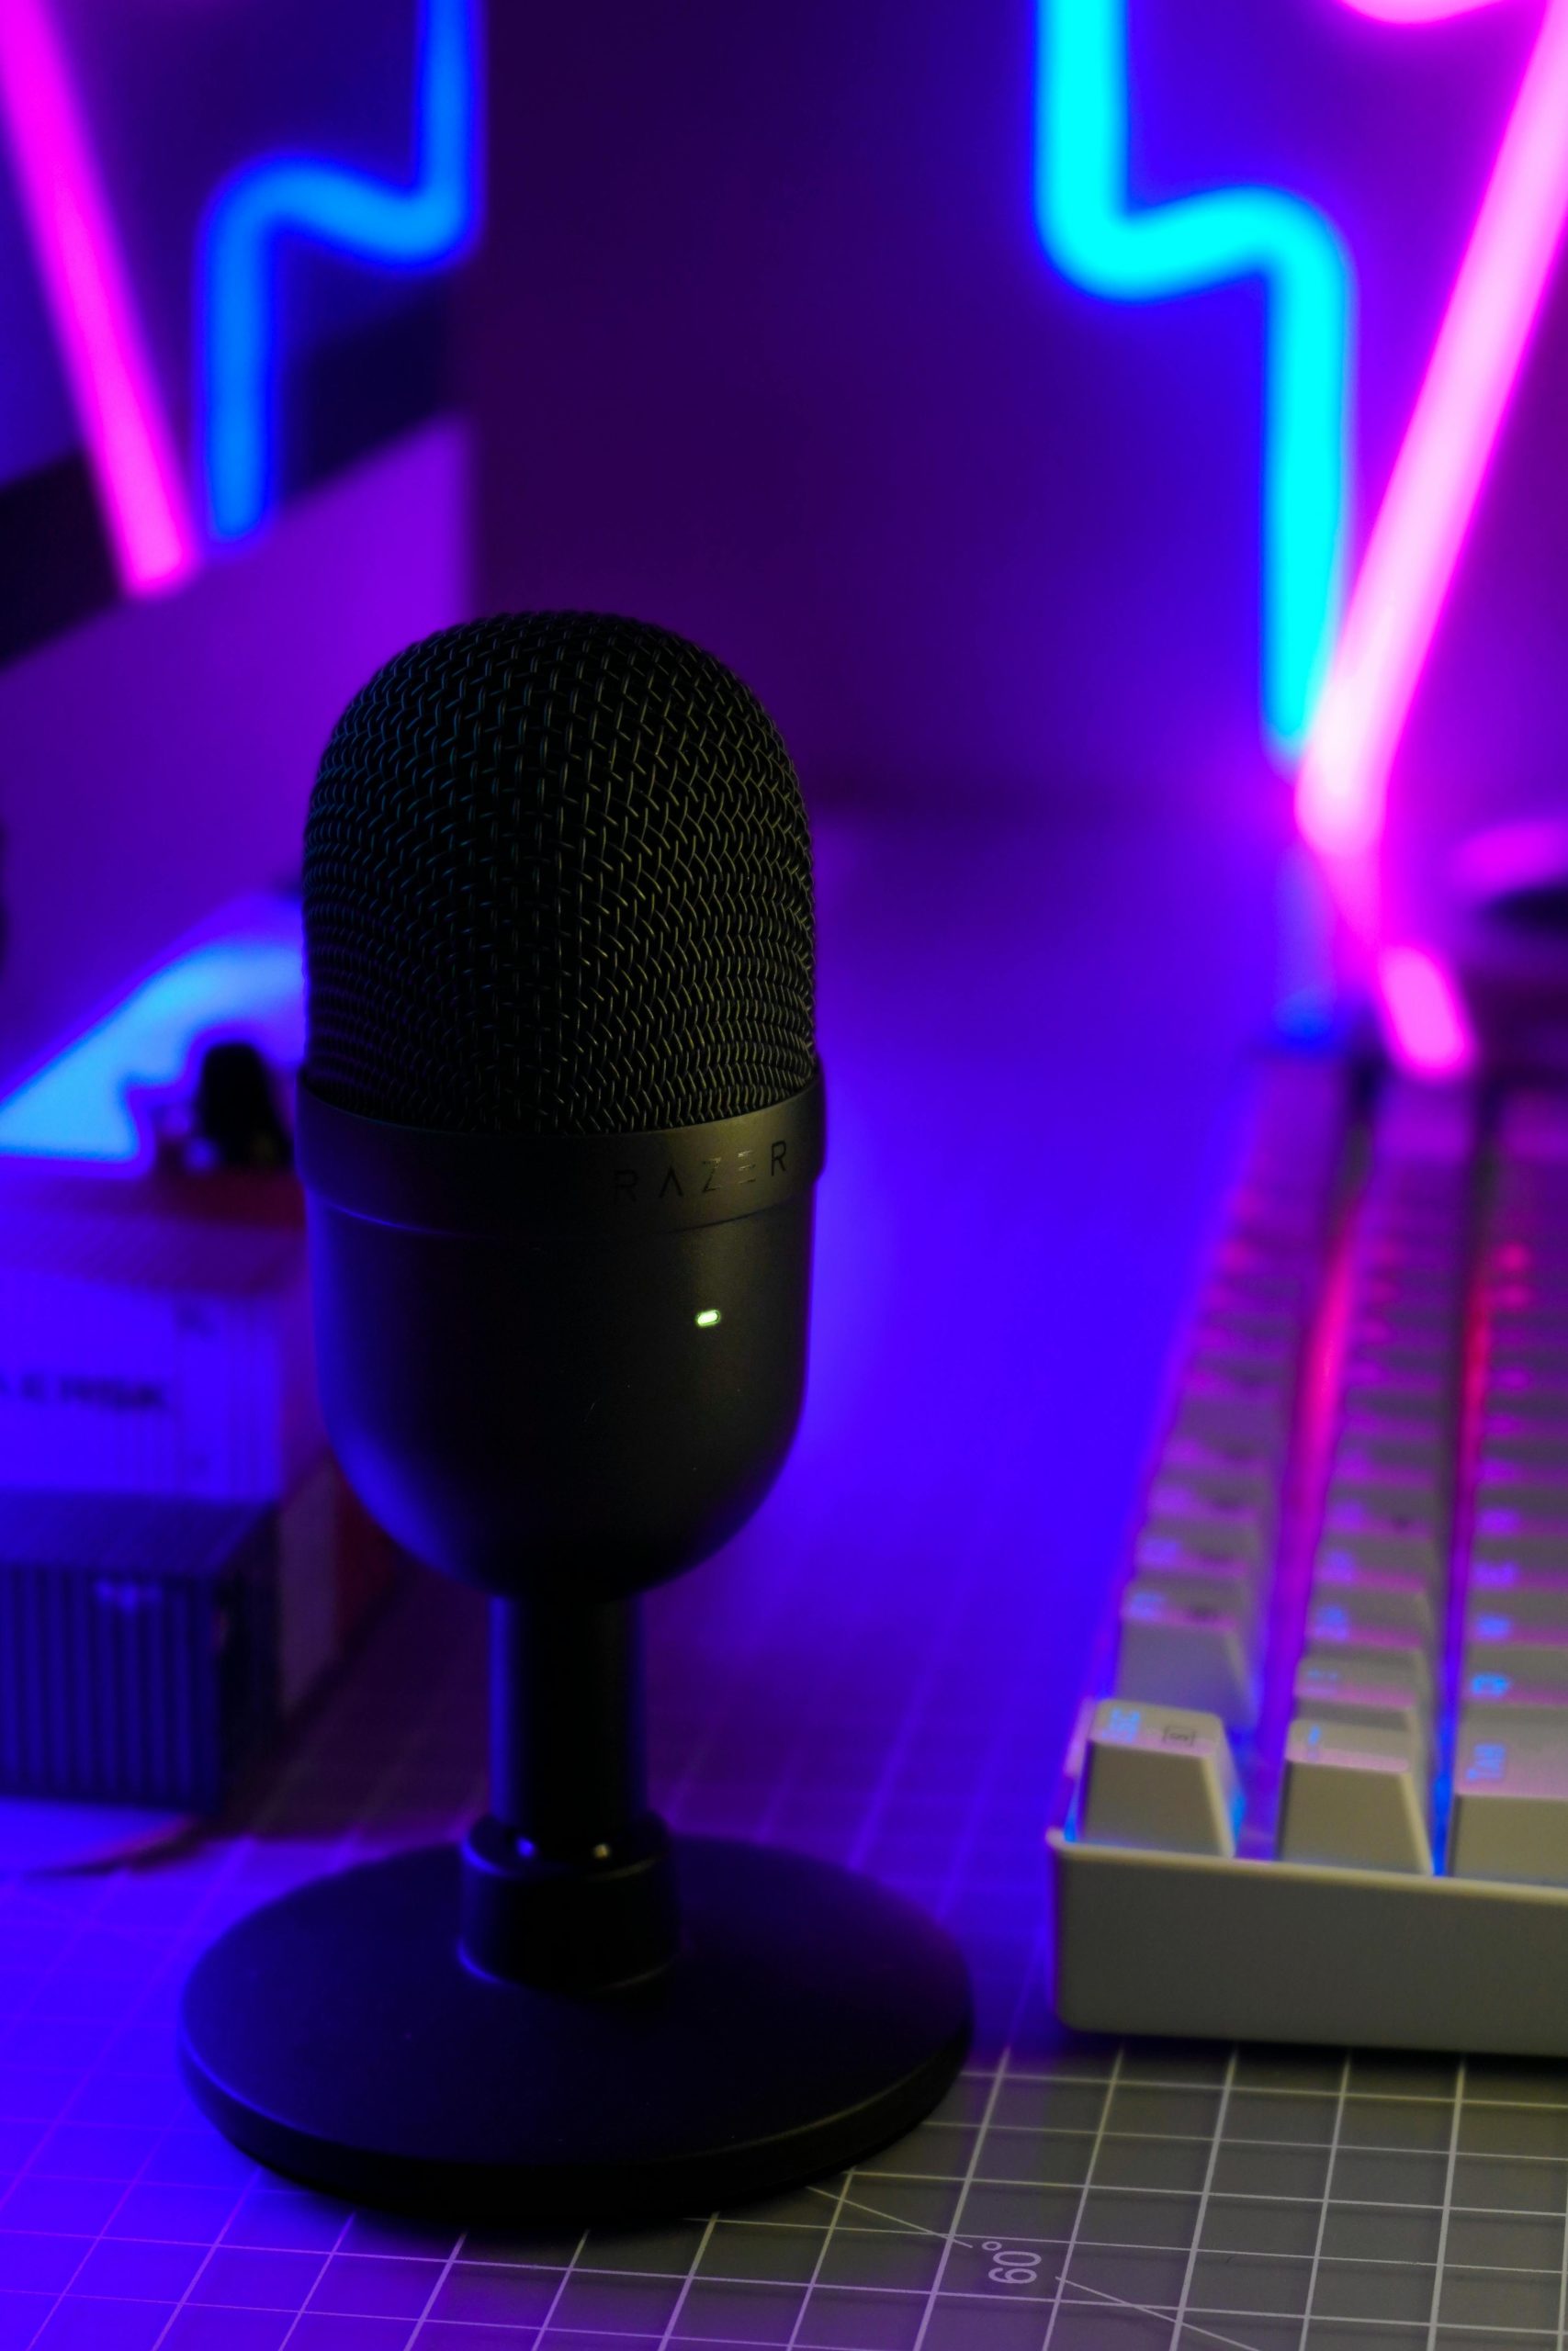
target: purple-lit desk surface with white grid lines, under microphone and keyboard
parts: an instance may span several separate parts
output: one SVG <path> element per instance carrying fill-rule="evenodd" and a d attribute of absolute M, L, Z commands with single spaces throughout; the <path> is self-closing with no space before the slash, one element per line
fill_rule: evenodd
<path fill-rule="evenodd" d="M 190 1956 L 482 1799 L 482 1620 L 421 1578 L 223 1834 L 0 1888 L 0 2351 L 1563 2344 L 1568 2069 L 1119 2050 L 1044 1994 L 1041 1822 L 1267 1016 L 1265 846 L 823 863 L 811 1406 L 755 1526 L 651 1603 L 654 1780 L 679 1827 L 940 1911 L 971 2071 L 849 2177 L 635 2236 L 418 2229 L 235 2156 L 174 2081 Z"/>

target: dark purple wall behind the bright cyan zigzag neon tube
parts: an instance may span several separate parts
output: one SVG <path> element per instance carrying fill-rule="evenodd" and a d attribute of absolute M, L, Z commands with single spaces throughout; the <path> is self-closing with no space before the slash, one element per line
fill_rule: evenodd
<path fill-rule="evenodd" d="M 1027 0 L 491 14 L 484 602 L 710 642 L 827 797 L 1279 795 L 1255 719 L 1260 299 L 1131 310 L 1053 277 Z M 1140 195 L 1265 179 L 1349 233 L 1366 513 L 1537 12 L 1131 14 Z M 1406 764 L 1432 823 L 1568 797 L 1566 341 L 1559 299 Z"/>

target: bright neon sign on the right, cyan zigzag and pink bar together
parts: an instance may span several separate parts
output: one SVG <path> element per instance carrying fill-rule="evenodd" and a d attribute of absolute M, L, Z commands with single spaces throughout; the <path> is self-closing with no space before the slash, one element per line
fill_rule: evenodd
<path fill-rule="evenodd" d="M 1408 26 L 1493 0 L 1345 5 Z M 1067 277 L 1140 301 L 1269 280 L 1265 717 L 1305 748 L 1307 839 L 1363 853 L 1568 219 L 1568 0 L 1549 0 L 1342 630 L 1354 280 L 1338 235 L 1269 188 L 1128 209 L 1126 0 L 1039 0 L 1037 54 L 1034 212 Z"/>

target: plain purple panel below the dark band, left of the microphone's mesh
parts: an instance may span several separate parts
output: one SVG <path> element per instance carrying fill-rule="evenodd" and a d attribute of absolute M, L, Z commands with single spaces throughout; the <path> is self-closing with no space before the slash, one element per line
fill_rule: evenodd
<path fill-rule="evenodd" d="M 444 423 L 181 595 L 5 670 L 0 1074 L 226 898 L 289 882 L 341 705 L 465 609 L 465 435 Z"/>

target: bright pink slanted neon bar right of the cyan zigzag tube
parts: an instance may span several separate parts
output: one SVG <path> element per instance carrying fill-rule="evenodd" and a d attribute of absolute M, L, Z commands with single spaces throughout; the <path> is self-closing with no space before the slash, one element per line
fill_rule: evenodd
<path fill-rule="evenodd" d="M 1352 5 L 1399 21 L 1455 12 L 1455 0 Z M 1568 0 L 1552 0 L 1307 741 L 1298 823 L 1331 856 L 1382 832 L 1389 769 L 1566 219 Z"/>

